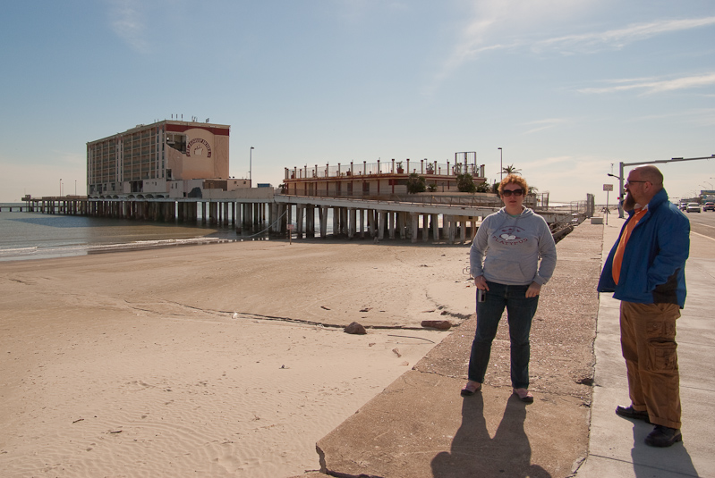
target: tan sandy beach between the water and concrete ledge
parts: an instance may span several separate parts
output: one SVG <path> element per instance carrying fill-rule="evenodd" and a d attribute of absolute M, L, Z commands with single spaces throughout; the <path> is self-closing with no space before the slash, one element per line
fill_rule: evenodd
<path fill-rule="evenodd" d="M 318 469 L 316 441 L 446 337 L 421 321 L 473 314 L 468 250 L 255 241 L 1 263 L 3 476 Z"/>

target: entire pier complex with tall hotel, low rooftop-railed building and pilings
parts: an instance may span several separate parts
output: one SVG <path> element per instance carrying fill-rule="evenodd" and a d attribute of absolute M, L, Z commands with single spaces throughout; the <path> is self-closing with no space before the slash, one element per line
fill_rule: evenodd
<path fill-rule="evenodd" d="M 172 115 L 87 143 L 87 197 L 24 197 L 31 212 L 194 223 L 256 235 L 464 242 L 498 210 L 474 151 L 285 168 L 283 184 L 228 176 L 230 126 Z M 251 147 L 252 153 L 253 147 Z M 422 192 L 424 191 L 424 192 Z M 529 195 L 525 204 L 536 204 Z M 558 222 L 549 214 L 549 223 Z M 563 218 L 562 218 L 563 219 Z"/>

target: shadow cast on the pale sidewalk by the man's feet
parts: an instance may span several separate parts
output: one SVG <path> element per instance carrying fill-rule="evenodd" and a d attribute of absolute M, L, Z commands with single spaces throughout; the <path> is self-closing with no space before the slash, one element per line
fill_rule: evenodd
<path fill-rule="evenodd" d="M 685 449 L 685 442 L 676 443 L 667 449 L 646 445 L 645 437 L 652 429 L 653 425 L 647 423 L 634 423 L 633 426 L 634 445 L 631 449 L 631 459 L 636 478 L 668 475 L 668 473 L 654 474 L 654 470 L 659 469 L 683 476 L 700 476 L 695 470 L 690 454 Z"/>

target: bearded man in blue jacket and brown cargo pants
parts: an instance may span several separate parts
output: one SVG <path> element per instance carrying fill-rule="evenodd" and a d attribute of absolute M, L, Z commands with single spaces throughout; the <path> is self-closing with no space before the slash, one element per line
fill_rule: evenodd
<path fill-rule="evenodd" d="M 631 171 L 626 192 L 629 217 L 598 287 L 621 301 L 621 349 L 631 405 L 617 407 L 616 414 L 654 424 L 645 443 L 669 447 L 683 440 L 676 319 L 685 305 L 690 222 L 668 201 L 655 166 Z"/>

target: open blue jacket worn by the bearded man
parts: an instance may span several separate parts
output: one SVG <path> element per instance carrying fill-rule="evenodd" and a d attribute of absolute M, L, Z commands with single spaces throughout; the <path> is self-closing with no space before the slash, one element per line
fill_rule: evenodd
<path fill-rule="evenodd" d="M 615 292 L 614 298 L 639 304 L 685 306 L 685 260 L 690 252 L 690 221 L 668 201 L 665 189 L 648 203 L 648 211 L 628 239 L 618 284 L 613 281 L 613 256 L 626 224 L 600 273 L 599 292 Z"/>

